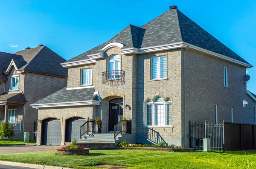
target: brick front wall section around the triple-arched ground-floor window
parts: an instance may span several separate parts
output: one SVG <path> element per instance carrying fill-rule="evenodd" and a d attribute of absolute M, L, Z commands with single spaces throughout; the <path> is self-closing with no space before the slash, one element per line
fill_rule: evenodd
<path fill-rule="evenodd" d="M 137 62 L 137 137 L 147 138 L 148 127 L 145 127 L 145 100 L 155 96 L 170 97 L 173 105 L 172 127 L 151 128 L 158 132 L 163 140 L 181 138 L 182 118 L 182 53 L 180 49 L 142 54 Z M 150 62 L 152 56 L 167 56 L 167 78 L 150 80 Z M 172 141 L 169 141 L 171 144 Z M 180 143 L 181 144 L 181 143 Z"/>

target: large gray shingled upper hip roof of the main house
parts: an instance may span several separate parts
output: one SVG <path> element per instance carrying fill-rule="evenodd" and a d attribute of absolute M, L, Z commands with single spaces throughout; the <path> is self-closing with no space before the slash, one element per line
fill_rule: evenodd
<path fill-rule="evenodd" d="M 177 9 L 166 11 L 141 27 L 128 25 L 128 27 L 119 34 L 116 34 L 116 36 L 109 41 L 67 62 L 89 59 L 87 55 L 99 53 L 102 47 L 111 42 L 124 44 L 125 46 L 122 47 L 122 49 L 146 48 L 176 42 L 187 42 L 248 64 L 243 58 Z"/>

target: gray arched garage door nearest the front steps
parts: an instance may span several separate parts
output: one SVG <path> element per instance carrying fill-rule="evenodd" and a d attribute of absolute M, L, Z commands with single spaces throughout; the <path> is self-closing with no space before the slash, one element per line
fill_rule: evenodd
<path fill-rule="evenodd" d="M 87 119 L 84 118 L 70 118 L 67 120 L 66 142 L 71 142 L 74 138 L 76 138 L 77 141 L 80 139 L 80 126 L 86 121 Z"/>

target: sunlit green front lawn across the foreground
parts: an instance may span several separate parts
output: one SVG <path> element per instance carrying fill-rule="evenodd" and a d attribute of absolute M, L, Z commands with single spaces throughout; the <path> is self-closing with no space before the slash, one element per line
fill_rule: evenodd
<path fill-rule="evenodd" d="M 161 152 L 155 150 L 91 150 L 87 156 L 61 156 L 55 152 L 0 155 L 0 160 L 85 169 L 113 165 L 137 169 L 255 169 L 256 151 L 242 152 Z"/>

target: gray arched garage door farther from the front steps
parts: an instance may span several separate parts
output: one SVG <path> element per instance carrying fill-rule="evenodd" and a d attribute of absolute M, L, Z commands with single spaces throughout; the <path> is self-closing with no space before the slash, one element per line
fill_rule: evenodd
<path fill-rule="evenodd" d="M 61 120 L 49 118 L 44 121 L 44 145 L 61 144 Z"/>

